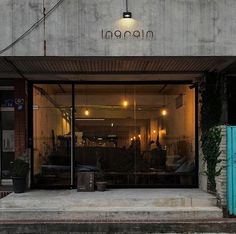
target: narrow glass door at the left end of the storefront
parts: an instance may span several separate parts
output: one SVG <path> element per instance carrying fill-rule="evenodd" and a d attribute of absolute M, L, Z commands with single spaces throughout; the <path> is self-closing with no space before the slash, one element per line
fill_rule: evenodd
<path fill-rule="evenodd" d="M 72 181 L 72 85 L 33 86 L 34 185 L 68 187 Z"/>

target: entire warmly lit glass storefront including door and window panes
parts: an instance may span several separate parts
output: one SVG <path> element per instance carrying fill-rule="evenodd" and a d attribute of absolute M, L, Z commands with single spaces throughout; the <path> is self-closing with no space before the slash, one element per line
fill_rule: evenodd
<path fill-rule="evenodd" d="M 196 187 L 195 88 L 185 83 L 34 83 L 32 184 L 97 170 L 112 187 Z M 74 137 L 73 137 L 74 136 Z"/>

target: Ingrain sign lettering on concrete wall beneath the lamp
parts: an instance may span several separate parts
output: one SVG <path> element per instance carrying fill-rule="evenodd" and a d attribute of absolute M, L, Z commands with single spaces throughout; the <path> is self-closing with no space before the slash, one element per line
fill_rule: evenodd
<path fill-rule="evenodd" d="M 133 30 L 133 31 L 121 31 L 121 30 L 103 30 L 102 39 L 141 39 L 141 40 L 152 40 L 154 33 L 151 30 Z"/>

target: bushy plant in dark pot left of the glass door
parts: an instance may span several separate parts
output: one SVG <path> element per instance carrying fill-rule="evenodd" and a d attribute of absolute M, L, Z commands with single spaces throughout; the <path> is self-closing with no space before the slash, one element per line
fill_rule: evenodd
<path fill-rule="evenodd" d="M 29 173 L 29 163 L 23 159 L 15 159 L 12 162 L 12 180 L 15 193 L 24 193 L 26 187 L 26 177 Z"/>

